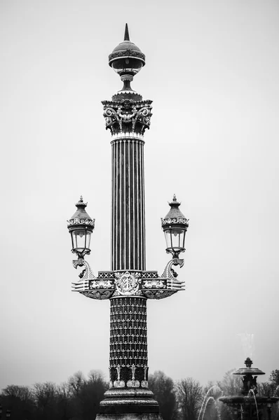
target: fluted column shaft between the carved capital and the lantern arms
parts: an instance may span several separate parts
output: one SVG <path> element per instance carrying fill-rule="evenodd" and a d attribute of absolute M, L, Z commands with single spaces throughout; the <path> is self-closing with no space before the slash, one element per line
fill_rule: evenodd
<path fill-rule="evenodd" d="M 111 269 L 145 269 L 144 141 L 111 142 Z"/>

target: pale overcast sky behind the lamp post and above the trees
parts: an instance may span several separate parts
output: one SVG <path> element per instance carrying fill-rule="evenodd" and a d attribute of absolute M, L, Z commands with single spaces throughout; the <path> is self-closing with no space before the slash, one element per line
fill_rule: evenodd
<path fill-rule="evenodd" d="M 279 3 L 1 0 L 0 387 L 108 377 L 109 301 L 71 292 L 67 218 L 95 218 L 95 274 L 110 269 L 108 55 L 146 54 L 132 87 L 154 100 L 145 136 L 147 269 L 168 262 L 161 217 L 190 219 L 186 291 L 148 302 L 150 372 L 203 384 L 252 356 L 279 368 Z M 243 337 L 254 335 L 245 349 Z"/>

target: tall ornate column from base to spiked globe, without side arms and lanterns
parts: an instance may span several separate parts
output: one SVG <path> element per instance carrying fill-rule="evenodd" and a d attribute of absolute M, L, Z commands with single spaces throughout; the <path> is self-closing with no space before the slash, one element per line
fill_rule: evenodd
<path fill-rule="evenodd" d="M 109 55 L 123 89 L 103 102 L 112 137 L 111 270 L 116 293 L 111 297 L 110 390 L 100 413 L 158 413 L 147 382 L 147 297 L 138 286 L 146 268 L 144 131 L 150 124 L 151 101 L 143 101 L 130 87 L 144 58 L 126 27 L 123 43 Z"/>

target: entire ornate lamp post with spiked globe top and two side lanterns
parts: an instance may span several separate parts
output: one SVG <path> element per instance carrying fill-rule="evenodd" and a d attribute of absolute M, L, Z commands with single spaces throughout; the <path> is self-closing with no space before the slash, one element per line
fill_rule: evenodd
<path fill-rule="evenodd" d="M 109 66 L 121 77 L 123 88 L 111 101 L 102 102 L 112 149 L 110 270 L 95 276 L 84 258 L 90 253 L 94 221 L 86 213 L 82 197 L 68 222 L 72 252 L 78 256 L 73 265 L 84 267 L 73 290 L 92 299 L 109 299 L 111 304 L 109 390 L 100 402 L 97 420 L 161 420 L 148 385 L 147 300 L 184 290 L 184 281 L 177 280 L 172 266 L 184 264 L 179 253 L 185 251 L 189 221 L 179 210 L 176 197 L 162 220 L 172 259 L 161 275 L 146 269 L 144 132 L 150 126 L 152 101 L 143 100 L 130 86 L 144 64 L 145 56 L 130 41 L 126 25 L 124 41 L 109 55 Z"/>

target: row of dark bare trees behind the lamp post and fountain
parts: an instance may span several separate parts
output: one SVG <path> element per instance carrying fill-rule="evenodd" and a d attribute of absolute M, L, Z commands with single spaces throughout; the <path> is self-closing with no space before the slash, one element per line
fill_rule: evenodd
<path fill-rule="evenodd" d="M 218 400 L 221 395 L 239 394 L 242 380 L 232 372 L 226 372 L 222 381 L 201 386 L 191 377 L 175 382 L 157 371 L 149 374 L 149 388 L 163 420 L 233 420 L 233 413 Z M 8 385 L 0 393 L 0 418 L 8 418 L 7 410 L 11 410 L 11 420 L 95 420 L 108 388 L 104 375 L 97 370 L 90 371 L 88 377 L 76 372 L 60 385 Z M 269 381 L 258 384 L 258 394 L 279 396 L 279 370 L 271 372 Z M 278 405 L 273 407 L 271 419 L 279 420 Z"/>

